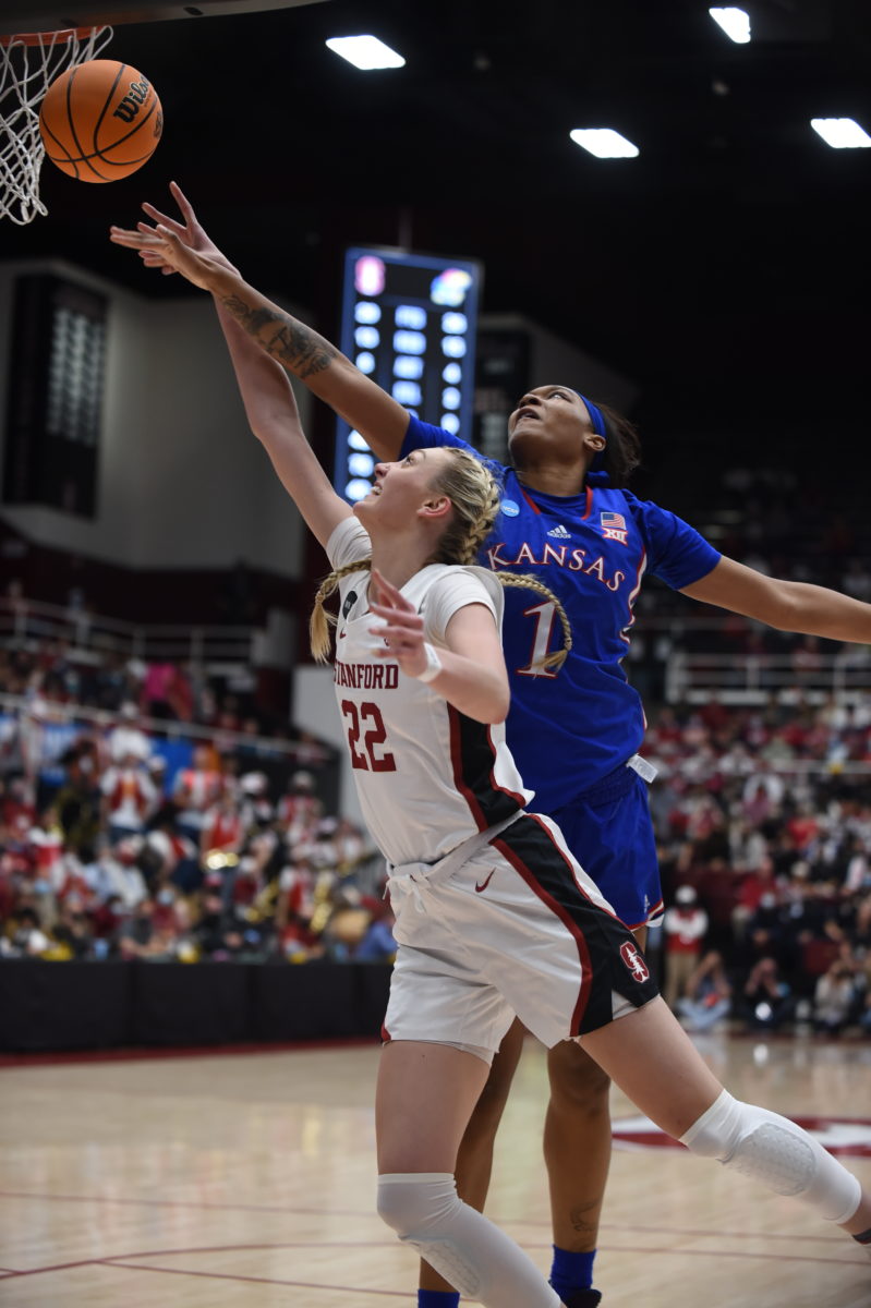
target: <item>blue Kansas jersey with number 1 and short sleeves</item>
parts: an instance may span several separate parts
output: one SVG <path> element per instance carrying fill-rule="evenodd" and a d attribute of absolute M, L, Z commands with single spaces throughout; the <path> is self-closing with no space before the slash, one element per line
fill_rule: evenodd
<path fill-rule="evenodd" d="M 454 445 L 477 451 L 442 428 L 412 417 L 409 450 Z M 589 487 L 551 496 L 522 487 L 517 473 L 484 459 L 498 479 L 502 509 L 480 561 L 494 572 L 531 573 L 560 598 L 574 645 L 558 672 L 536 671 L 558 649 L 553 604 L 534 591 L 505 593 L 502 640 L 511 680 L 507 742 L 536 810 L 569 803 L 641 746 L 638 693 L 623 661 L 633 604 L 645 573 L 680 590 L 705 577 L 719 553 L 688 523 L 628 490 Z M 594 479 L 595 480 L 595 479 Z"/>

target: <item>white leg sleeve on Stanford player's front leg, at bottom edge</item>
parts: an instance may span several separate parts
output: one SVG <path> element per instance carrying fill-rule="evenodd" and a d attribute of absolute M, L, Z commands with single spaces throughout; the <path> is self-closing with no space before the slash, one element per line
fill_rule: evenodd
<path fill-rule="evenodd" d="M 450 1172 L 379 1176 L 378 1214 L 462 1295 L 485 1308 L 561 1308 L 531 1258 L 463 1203 Z"/>

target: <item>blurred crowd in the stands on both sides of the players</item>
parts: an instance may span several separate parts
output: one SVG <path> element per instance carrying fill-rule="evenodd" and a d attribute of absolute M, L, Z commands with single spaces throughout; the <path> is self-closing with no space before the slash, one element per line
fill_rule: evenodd
<path fill-rule="evenodd" d="M 868 599 L 855 542 L 829 545 L 838 576 L 825 579 Z M 761 553 L 747 562 L 769 569 Z M 798 555 L 791 572 L 806 573 Z M 696 1031 L 871 1035 L 871 695 L 855 688 L 868 651 L 730 619 L 711 633 L 683 625 L 680 596 L 642 598 L 629 675 L 658 769 L 666 914 L 649 954 L 666 998 Z M 676 615 L 667 636 L 657 613 Z M 764 702 L 663 702 L 675 653 L 705 647 L 736 667 L 756 659 Z M 841 657 L 853 688 L 823 697 L 815 675 Z M 8 641 L 0 960 L 390 961 L 383 869 L 324 804 L 327 761 L 195 663 L 82 662 L 75 642 Z"/>

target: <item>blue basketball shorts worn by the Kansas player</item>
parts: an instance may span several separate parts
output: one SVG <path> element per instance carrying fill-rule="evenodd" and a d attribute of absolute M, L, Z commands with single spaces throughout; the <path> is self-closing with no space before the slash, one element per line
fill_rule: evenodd
<path fill-rule="evenodd" d="M 630 930 L 659 921 L 663 901 L 657 840 L 647 783 L 637 772 L 620 766 L 548 816 Z"/>

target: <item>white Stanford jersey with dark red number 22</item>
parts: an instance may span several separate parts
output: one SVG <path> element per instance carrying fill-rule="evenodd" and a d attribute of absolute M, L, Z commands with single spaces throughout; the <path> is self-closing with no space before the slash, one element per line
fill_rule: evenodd
<path fill-rule="evenodd" d="M 333 568 L 371 553 L 369 535 L 345 518 L 327 543 Z M 484 604 L 502 616 L 502 587 L 481 568 L 430 564 L 401 587 L 425 623 L 426 640 L 445 645 L 453 615 Z M 369 572 L 340 582 L 333 680 L 350 765 L 366 825 L 394 865 L 432 862 L 476 832 L 509 818 L 532 798 L 505 744 L 502 725 L 459 713 L 399 664 L 378 658 L 369 611 Z"/>

